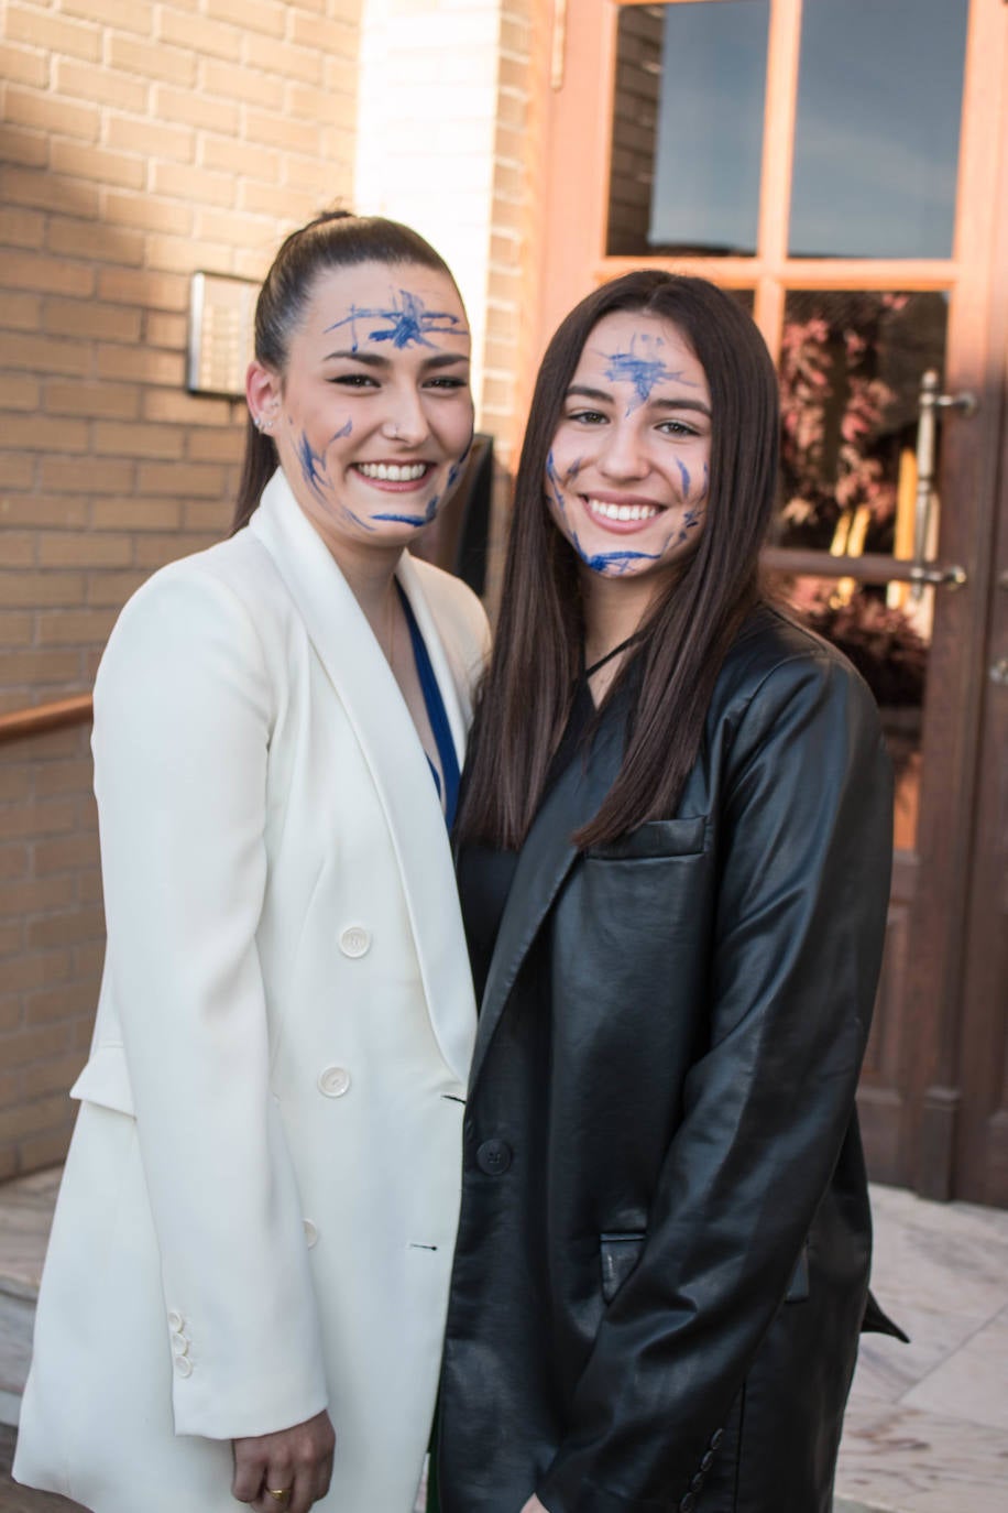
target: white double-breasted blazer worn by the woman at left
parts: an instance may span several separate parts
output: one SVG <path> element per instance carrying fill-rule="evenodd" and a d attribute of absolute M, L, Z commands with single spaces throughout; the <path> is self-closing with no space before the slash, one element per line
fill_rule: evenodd
<path fill-rule="evenodd" d="M 461 764 L 484 611 L 397 576 Z M 15 1475 L 234 1513 L 230 1440 L 328 1406 L 317 1507 L 410 1513 L 476 1011 L 431 769 L 283 474 L 127 604 L 94 755 L 106 971 Z"/>

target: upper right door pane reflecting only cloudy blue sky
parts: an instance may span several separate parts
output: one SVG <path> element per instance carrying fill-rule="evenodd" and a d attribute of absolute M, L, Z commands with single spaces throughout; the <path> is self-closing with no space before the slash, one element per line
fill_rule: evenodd
<path fill-rule="evenodd" d="M 792 257 L 951 257 L 967 12 L 804 0 Z"/>

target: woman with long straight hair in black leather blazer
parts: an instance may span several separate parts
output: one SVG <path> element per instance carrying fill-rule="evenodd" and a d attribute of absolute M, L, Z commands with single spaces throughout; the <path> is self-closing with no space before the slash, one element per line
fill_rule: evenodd
<path fill-rule="evenodd" d="M 870 1218 L 890 772 L 760 587 L 777 383 L 642 271 L 535 387 L 456 828 L 482 997 L 444 1513 L 827 1513 Z"/>

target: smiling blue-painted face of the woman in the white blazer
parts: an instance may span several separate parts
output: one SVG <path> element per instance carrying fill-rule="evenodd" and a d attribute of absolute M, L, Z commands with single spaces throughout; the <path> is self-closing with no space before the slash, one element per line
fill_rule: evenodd
<path fill-rule="evenodd" d="M 283 374 L 252 363 L 252 415 L 337 560 L 405 546 L 437 514 L 473 434 L 468 354 L 449 277 L 370 262 L 319 274 Z"/>

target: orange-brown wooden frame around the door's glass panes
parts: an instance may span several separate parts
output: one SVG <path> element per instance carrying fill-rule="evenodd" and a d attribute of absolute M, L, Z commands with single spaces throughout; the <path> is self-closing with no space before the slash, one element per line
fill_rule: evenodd
<path fill-rule="evenodd" d="M 754 289 L 756 321 L 774 353 L 780 346 L 786 289 L 949 290 L 945 387 L 948 392 L 969 389 L 981 398 L 973 419 L 949 419 L 945 427 L 940 492 L 949 507 L 942 511 L 938 558 L 963 563 L 969 579 L 955 593 L 938 590 L 928 682 L 929 688 L 942 688 L 942 697 L 929 697 L 925 705 L 920 829 L 916 853 L 899 861 L 911 894 L 904 1024 L 913 1023 L 914 1033 L 904 1033 L 907 1044 L 898 1047 L 905 1097 L 896 1115 L 898 1138 L 889 1176 L 929 1197 L 951 1197 L 966 1071 L 961 1026 L 967 899 L 994 581 L 997 463 L 1003 440 L 1002 374 L 994 333 L 1006 297 L 1006 274 L 999 271 L 996 260 L 996 207 L 1005 174 L 1008 5 L 1005 0 L 972 0 L 970 5 L 951 259 L 787 256 L 802 0 L 771 0 L 757 256 L 615 259 L 604 256 L 615 20 L 624 5 L 647 3 L 650 0 L 577 0 L 576 11 L 571 6 L 567 15 L 562 68 L 555 79 L 559 88 L 549 91 L 544 112 L 540 350 L 577 298 L 642 262 L 713 275 L 725 287 Z M 1005 268 L 1003 257 L 1000 268 Z M 952 478 L 957 481 L 954 492 L 948 487 Z"/>

